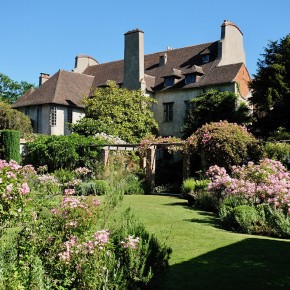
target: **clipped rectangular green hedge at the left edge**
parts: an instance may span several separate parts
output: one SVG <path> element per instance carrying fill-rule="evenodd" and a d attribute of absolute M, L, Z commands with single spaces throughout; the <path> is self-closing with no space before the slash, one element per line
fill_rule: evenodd
<path fill-rule="evenodd" d="M 20 162 L 20 133 L 15 130 L 0 131 L 0 145 L 3 148 L 3 159 Z"/>

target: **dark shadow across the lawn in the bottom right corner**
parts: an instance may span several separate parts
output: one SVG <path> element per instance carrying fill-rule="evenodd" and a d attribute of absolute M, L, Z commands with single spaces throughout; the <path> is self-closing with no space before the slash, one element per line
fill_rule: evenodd
<path fill-rule="evenodd" d="M 290 289 L 290 242 L 249 238 L 170 266 L 152 289 Z"/>

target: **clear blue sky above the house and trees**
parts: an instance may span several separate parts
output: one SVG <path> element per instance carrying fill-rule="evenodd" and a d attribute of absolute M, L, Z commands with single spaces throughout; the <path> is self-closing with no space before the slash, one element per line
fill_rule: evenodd
<path fill-rule="evenodd" d="M 0 11 L 0 72 L 36 85 L 40 72 L 73 69 L 78 54 L 122 59 L 124 33 L 135 28 L 148 54 L 216 41 L 230 20 L 244 34 L 250 74 L 269 40 L 290 33 L 289 0 L 2 0 Z"/>

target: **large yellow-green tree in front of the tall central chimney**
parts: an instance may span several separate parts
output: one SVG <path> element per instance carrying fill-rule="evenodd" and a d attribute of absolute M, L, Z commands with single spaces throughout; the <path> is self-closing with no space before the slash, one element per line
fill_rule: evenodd
<path fill-rule="evenodd" d="M 86 117 L 70 127 L 79 134 L 103 132 L 126 142 L 139 142 L 157 130 L 150 110 L 153 103 L 141 90 L 119 88 L 111 81 L 107 87 L 96 89 L 93 96 L 84 98 Z"/>

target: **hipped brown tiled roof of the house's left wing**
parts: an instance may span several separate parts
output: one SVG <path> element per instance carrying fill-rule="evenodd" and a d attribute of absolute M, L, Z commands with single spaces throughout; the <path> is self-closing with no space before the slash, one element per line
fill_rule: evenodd
<path fill-rule="evenodd" d="M 59 70 L 38 89 L 21 96 L 12 107 L 42 104 L 83 107 L 81 101 L 89 94 L 93 80 L 93 76 Z"/>

